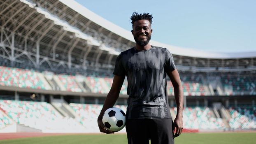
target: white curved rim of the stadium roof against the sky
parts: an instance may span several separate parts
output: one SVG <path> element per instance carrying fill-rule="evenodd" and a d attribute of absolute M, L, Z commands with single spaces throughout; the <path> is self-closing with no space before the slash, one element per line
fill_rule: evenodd
<path fill-rule="evenodd" d="M 97 14 L 91 12 L 86 7 L 80 5 L 78 2 L 74 0 L 59 0 L 63 4 L 67 5 L 74 11 L 78 12 L 82 16 L 90 19 L 94 23 L 97 23 L 99 26 L 106 28 L 107 30 L 116 33 L 117 35 L 128 39 L 131 42 L 135 42 L 133 36 L 131 35 L 130 31 L 125 30 L 110 21 L 98 16 Z M 151 44 L 161 47 L 166 47 L 171 51 L 172 54 L 181 55 L 181 56 L 189 56 L 189 57 L 198 57 L 198 58 L 252 58 L 256 57 L 256 51 L 254 52 L 240 52 L 240 53 L 221 53 L 221 52 L 208 52 L 208 51 L 201 51 L 195 49 L 187 49 L 178 46 L 171 46 L 168 44 L 163 44 L 160 42 L 156 42 L 151 40 Z M 207 49 L 207 48 L 206 48 Z"/>

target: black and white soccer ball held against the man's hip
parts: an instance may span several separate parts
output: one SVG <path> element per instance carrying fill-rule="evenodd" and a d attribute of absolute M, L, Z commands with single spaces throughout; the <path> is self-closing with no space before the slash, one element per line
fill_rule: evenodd
<path fill-rule="evenodd" d="M 118 132 L 126 124 L 126 114 L 122 109 L 111 107 L 105 111 L 102 122 L 108 130 Z"/>

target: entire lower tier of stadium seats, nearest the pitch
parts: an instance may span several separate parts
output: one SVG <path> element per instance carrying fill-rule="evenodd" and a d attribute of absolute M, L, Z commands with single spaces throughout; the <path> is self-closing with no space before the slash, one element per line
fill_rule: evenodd
<path fill-rule="evenodd" d="M 15 123 L 43 132 L 98 132 L 97 118 L 102 105 L 75 104 L 69 106 L 76 118 L 63 117 L 47 102 L 0 100 L 0 129 Z M 116 105 L 126 111 L 125 105 Z M 177 108 L 171 108 L 174 115 Z M 229 108 L 231 129 L 255 129 L 256 107 Z M 10 120 L 11 118 L 12 120 Z M 183 110 L 184 128 L 189 130 L 225 130 L 221 118 L 215 118 L 208 107 L 187 107 Z"/>

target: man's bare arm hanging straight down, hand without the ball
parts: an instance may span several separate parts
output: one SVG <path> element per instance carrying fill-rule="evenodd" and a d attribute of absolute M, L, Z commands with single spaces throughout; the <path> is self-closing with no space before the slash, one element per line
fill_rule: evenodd
<path fill-rule="evenodd" d="M 175 101 L 176 101 L 176 105 L 177 105 L 177 115 L 174 120 L 174 127 L 175 127 L 174 130 L 176 129 L 174 137 L 178 137 L 179 135 L 181 135 L 182 129 L 183 129 L 182 111 L 183 111 L 183 103 L 184 103 L 183 100 L 184 99 L 183 99 L 182 82 L 180 80 L 179 72 L 177 69 L 175 69 L 173 71 L 167 71 L 166 73 L 170 77 L 170 79 L 172 81 L 173 88 L 174 88 Z M 174 132 L 174 130 L 173 130 L 173 132 Z"/>

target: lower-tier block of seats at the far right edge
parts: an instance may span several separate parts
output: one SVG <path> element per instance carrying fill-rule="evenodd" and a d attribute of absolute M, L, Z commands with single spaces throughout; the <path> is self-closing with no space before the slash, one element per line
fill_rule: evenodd
<path fill-rule="evenodd" d="M 256 107 L 229 108 L 231 118 L 228 120 L 230 128 L 252 129 L 256 128 Z"/>

